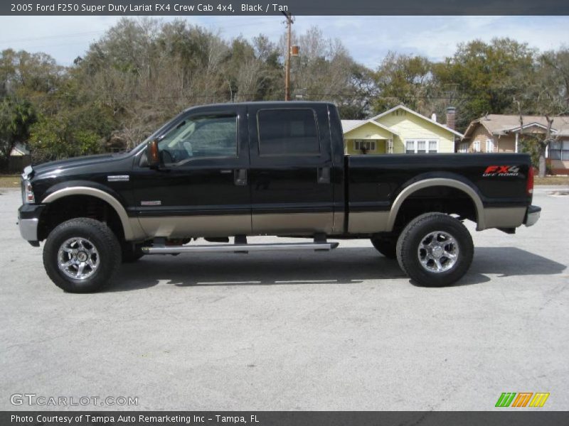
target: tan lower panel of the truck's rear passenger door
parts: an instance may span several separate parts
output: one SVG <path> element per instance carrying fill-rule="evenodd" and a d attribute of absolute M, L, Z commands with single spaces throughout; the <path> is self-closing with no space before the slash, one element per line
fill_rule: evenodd
<path fill-rule="evenodd" d="M 333 214 L 329 213 L 268 213 L 253 214 L 253 234 L 282 235 L 315 232 L 331 234 Z"/>

